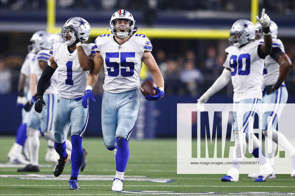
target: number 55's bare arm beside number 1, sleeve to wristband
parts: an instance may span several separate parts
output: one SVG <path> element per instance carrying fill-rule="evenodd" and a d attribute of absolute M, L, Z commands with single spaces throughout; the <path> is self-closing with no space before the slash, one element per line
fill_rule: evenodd
<path fill-rule="evenodd" d="M 95 86 L 99 72 L 103 65 L 104 65 L 104 60 L 101 57 L 100 53 L 97 52 L 93 60 L 93 67 L 90 70 L 89 75 L 87 77 L 86 86 L 92 86 L 92 87 Z"/>

